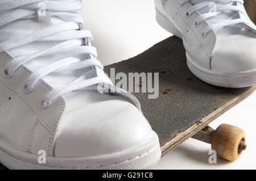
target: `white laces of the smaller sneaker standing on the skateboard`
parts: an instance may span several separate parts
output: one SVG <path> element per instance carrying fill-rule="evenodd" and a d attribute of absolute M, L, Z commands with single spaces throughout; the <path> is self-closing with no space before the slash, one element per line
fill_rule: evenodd
<path fill-rule="evenodd" d="M 193 6 L 190 7 L 186 12 L 187 17 L 190 17 L 193 14 L 193 12 L 196 12 L 204 8 L 209 8 L 210 3 L 214 3 L 216 7 L 216 12 L 210 11 L 198 16 L 195 20 L 196 27 L 199 26 L 204 19 L 207 20 L 224 11 L 237 11 L 237 12 L 241 12 L 242 14 L 246 14 L 244 9 L 242 9 L 241 7 L 238 7 L 237 5 L 234 5 L 234 3 L 243 4 L 243 0 L 179 0 L 179 4 L 181 7 L 186 2 L 193 3 Z M 202 33 L 203 37 L 207 36 L 208 32 L 211 30 L 218 31 L 221 28 L 224 28 L 226 26 L 234 26 L 234 24 L 250 23 L 250 22 L 249 22 L 249 19 L 245 19 L 245 18 L 234 19 L 233 16 L 231 16 L 229 19 L 210 19 L 208 20 L 208 23 L 210 24 L 210 26 L 206 27 L 205 30 L 203 30 L 203 33 Z"/>

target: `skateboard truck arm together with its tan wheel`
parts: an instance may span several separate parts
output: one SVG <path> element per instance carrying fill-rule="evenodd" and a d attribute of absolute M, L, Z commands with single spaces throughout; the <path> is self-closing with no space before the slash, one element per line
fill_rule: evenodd
<path fill-rule="evenodd" d="M 247 148 L 245 132 L 229 124 L 221 124 L 216 130 L 207 125 L 192 138 L 211 144 L 219 157 L 229 161 L 238 159 Z"/>

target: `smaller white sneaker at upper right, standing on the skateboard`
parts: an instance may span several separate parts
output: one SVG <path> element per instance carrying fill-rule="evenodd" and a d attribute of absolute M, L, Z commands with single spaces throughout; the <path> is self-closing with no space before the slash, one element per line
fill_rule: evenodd
<path fill-rule="evenodd" d="M 189 69 L 222 87 L 256 84 L 256 27 L 243 0 L 155 0 L 156 20 L 183 39 Z"/>

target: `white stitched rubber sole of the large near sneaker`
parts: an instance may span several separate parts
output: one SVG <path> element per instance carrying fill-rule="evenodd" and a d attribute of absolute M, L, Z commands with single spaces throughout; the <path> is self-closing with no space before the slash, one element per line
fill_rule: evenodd
<path fill-rule="evenodd" d="M 40 155 L 17 150 L 0 141 L 0 162 L 9 169 L 149 169 L 161 157 L 157 134 L 142 145 L 129 150 L 92 157 L 46 157 L 46 163 L 39 164 Z"/>

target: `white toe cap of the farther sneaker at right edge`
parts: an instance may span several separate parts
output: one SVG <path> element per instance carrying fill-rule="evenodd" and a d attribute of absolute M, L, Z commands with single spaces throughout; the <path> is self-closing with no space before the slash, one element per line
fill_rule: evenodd
<path fill-rule="evenodd" d="M 256 38 L 245 35 L 232 35 L 217 39 L 212 54 L 213 71 L 240 73 L 256 71 Z"/>

